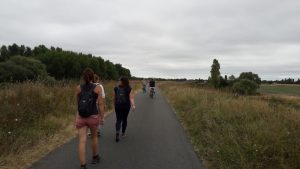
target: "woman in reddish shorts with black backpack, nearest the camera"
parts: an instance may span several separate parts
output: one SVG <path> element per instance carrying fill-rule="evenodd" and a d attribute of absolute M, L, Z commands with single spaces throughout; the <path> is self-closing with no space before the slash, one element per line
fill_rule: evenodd
<path fill-rule="evenodd" d="M 79 160 L 81 169 L 86 169 L 86 132 L 87 128 L 92 133 L 92 151 L 93 158 L 92 164 L 100 162 L 100 156 L 98 154 L 98 137 L 97 128 L 99 126 L 99 111 L 104 112 L 104 99 L 102 98 L 102 90 L 99 86 L 94 84 L 94 72 L 92 69 L 86 68 L 82 73 L 84 84 L 77 86 L 76 96 L 78 113 L 76 116 L 76 128 L 79 135 Z M 99 111 L 97 108 L 99 107 Z"/>

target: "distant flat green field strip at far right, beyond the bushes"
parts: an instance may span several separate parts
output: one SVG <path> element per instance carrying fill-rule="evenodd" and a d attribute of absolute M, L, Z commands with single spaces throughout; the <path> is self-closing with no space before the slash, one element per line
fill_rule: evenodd
<path fill-rule="evenodd" d="M 300 85 L 261 85 L 259 92 L 267 94 L 300 96 Z"/>

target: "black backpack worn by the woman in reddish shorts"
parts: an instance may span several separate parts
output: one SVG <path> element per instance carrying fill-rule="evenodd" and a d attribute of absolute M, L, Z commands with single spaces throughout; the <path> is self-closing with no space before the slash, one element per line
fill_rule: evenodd
<path fill-rule="evenodd" d="M 95 97 L 94 97 L 94 89 L 96 85 L 81 85 L 81 92 L 79 94 L 78 101 L 78 113 L 81 117 L 89 117 L 94 112 L 95 105 Z"/>

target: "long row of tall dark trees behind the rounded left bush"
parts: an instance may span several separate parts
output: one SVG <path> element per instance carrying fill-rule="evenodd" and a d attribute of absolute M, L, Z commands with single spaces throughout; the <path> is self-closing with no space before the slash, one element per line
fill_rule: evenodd
<path fill-rule="evenodd" d="M 8 48 L 2 46 L 0 48 L 0 61 L 4 62 L 10 60 L 7 64 L 11 69 L 16 71 L 23 70 L 24 66 L 20 67 L 19 64 L 16 65 L 16 63 L 10 59 L 10 57 L 14 55 L 23 55 L 22 57 L 26 56 L 24 58 L 39 60 L 46 65 L 48 74 L 56 79 L 79 78 L 82 70 L 86 67 L 92 68 L 94 72 L 103 79 L 117 79 L 119 76 L 131 77 L 130 70 L 124 68 L 121 64 L 114 64 L 109 60 L 105 61 L 103 58 L 95 57 L 92 54 L 64 51 L 58 47 L 50 47 L 50 49 L 48 49 L 44 45 L 39 45 L 32 50 L 30 47 L 25 47 L 24 45 L 19 47 L 17 44 L 13 44 Z M 7 70 L 11 69 L 7 68 Z M 25 69 L 30 71 L 29 67 Z M 20 74 L 20 76 L 21 75 L 24 74 Z M 16 76 L 14 75 L 14 77 Z M 26 73 L 26 77 L 24 78 L 30 79 L 31 77 Z"/>

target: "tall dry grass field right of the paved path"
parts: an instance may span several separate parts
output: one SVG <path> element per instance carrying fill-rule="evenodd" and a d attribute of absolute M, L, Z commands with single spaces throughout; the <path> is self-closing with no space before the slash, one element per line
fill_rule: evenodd
<path fill-rule="evenodd" d="M 207 169 L 300 168 L 300 100 L 162 83 Z"/>

